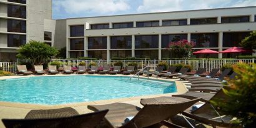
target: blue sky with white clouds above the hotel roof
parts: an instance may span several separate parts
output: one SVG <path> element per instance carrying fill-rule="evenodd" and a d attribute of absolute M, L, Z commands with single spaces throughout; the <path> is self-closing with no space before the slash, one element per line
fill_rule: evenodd
<path fill-rule="evenodd" d="M 52 0 L 53 19 L 256 6 L 256 0 Z"/>

